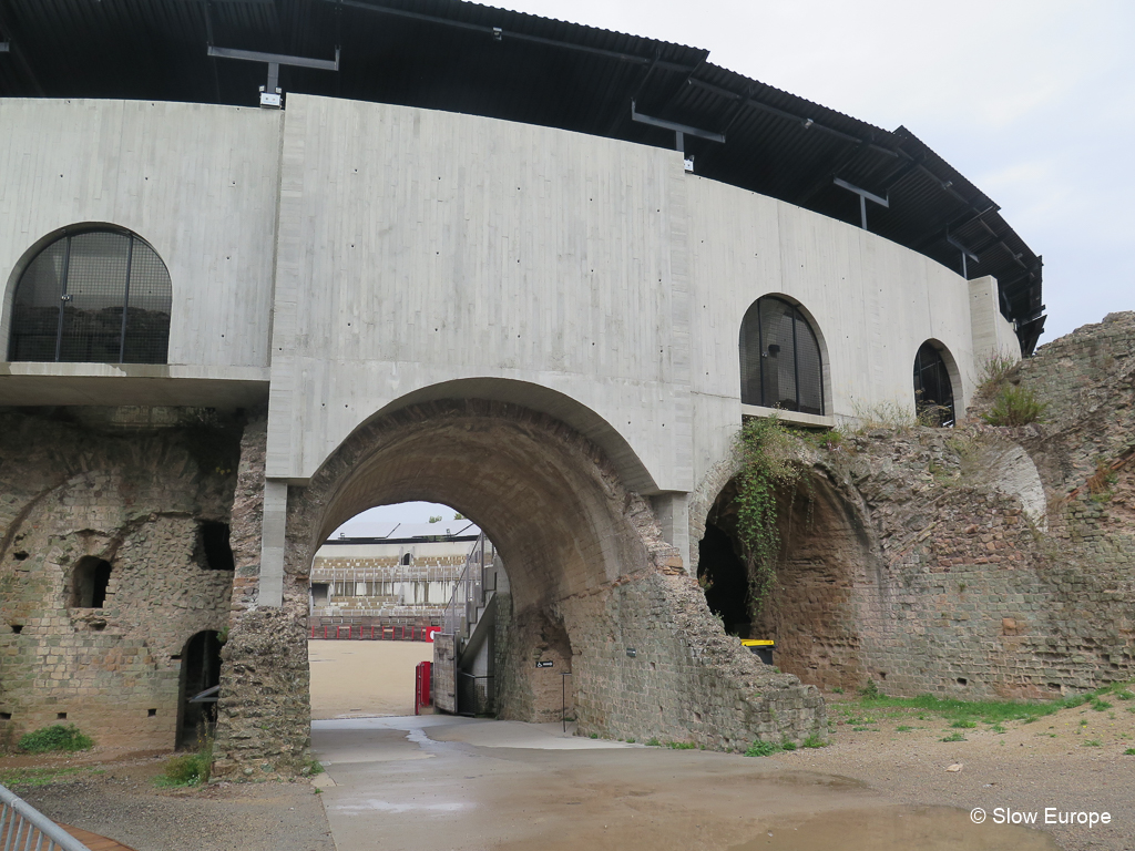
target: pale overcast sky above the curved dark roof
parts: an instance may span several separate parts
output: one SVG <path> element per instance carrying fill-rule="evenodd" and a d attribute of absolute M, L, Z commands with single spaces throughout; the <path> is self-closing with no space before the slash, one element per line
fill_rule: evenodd
<path fill-rule="evenodd" d="M 1130 0 L 489 5 L 704 48 L 754 79 L 886 129 L 905 125 L 1043 255 L 1042 345 L 1135 310 Z M 442 513 L 422 505 L 404 519 L 431 511 Z"/>

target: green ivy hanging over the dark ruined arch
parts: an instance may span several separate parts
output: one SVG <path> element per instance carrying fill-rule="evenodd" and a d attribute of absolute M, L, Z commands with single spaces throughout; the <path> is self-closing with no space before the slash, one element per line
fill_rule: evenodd
<path fill-rule="evenodd" d="M 749 568 L 753 614 L 757 615 L 776 582 L 781 536 L 776 524 L 776 490 L 793 490 L 801 466 L 793 457 L 794 441 L 775 416 L 746 421 L 738 438 L 742 467 L 737 475 L 737 534 Z"/>

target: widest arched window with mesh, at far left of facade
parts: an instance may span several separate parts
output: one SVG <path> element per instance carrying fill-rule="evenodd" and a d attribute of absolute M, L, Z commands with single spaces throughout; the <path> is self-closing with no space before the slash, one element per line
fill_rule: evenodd
<path fill-rule="evenodd" d="M 171 303 L 169 271 L 140 236 L 66 233 L 19 277 L 8 360 L 166 363 Z"/>

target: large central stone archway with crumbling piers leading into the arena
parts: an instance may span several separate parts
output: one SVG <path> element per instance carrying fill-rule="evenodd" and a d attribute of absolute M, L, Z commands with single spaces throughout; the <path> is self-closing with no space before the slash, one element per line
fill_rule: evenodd
<path fill-rule="evenodd" d="M 506 717 L 558 718 L 569 664 L 580 732 L 729 749 L 757 735 L 823 734 L 819 696 L 725 639 L 649 503 L 592 443 L 514 404 L 439 399 L 373 418 L 306 487 L 289 488 L 284 606 L 241 614 L 226 646 L 221 774 L 286 773 L 302 761 L 302 622 L 316 549 L 360 511 L 413 500 L 473 520 L 507 566 L 511 629 L 497 669 Z M 537 668 L 537 657 L 555 665 Z M 276 706 L 267 711 L 260 684 L 269 681 Z"/>

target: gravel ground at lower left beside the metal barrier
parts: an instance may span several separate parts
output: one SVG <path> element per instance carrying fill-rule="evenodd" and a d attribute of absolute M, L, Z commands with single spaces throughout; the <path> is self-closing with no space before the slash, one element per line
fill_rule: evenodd
<path fill-rule="evenodd" d="M 335 851 L 322 800 L 308 782 L 163 790 L 153 781 L 165 757 L 116 757 L 59 761 L 78 778 L 14 791 L 57 821 L 136 851 Z"/>

